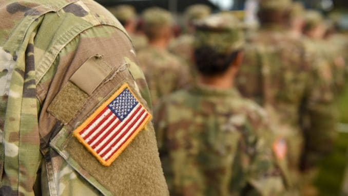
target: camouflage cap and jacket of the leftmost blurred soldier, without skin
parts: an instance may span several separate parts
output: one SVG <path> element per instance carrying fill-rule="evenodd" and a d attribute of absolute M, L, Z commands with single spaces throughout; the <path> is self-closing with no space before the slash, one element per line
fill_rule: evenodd
<path fill-rule="evenodd" d="M 136 23 L 137 20 L 137 12 L 133 6 L 130 5 L 119 5 L 116 7 L 110 7 L 108 10 L 119 20 L 127 23 L 128 21 L 134 21 Z M 129 36 L 132 40 L 134 48 L 138 51 L 147 46 L 147 38 L 145 35 L 137 34 L 137 33 L 129 33 Z"/>

